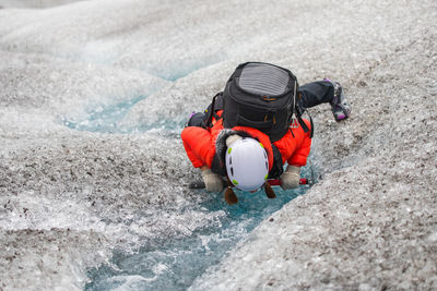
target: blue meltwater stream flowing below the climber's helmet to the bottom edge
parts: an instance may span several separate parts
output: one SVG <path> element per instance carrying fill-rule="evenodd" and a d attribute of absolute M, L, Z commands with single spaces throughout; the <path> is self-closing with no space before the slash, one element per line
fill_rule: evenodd
<path fill-rule="evenodd" d="M 305 168 L 304 175 L 309 174 L 308 167 Z M 276 187 L 275 199 L 267 198 L 261 191 L 237 192 L 239 203 L 234 206 L 228 206 L 222 195 L 198 191 L 210 198 L 190 207 L 198 211 L 223 211 L 220 221 L 189 237 L 145 242 L 134 254 L 115 252 L 110 266 L 88 272 L 92 282 L 85 290 L 186 290 L 262 220 L 304 194 L 307 187 L 287 192 Z"/>

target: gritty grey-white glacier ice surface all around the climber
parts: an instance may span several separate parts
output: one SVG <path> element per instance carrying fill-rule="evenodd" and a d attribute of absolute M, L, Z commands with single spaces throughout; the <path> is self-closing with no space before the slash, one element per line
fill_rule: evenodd
<path fill-rule="evenodd" d="M 436 289 L 435 1 L 0 5 L 0 289 Z M 272 221 L 184 186 L 186 117 L 248 60 L 353 106 L 311 109 L 324 179 Z"/>

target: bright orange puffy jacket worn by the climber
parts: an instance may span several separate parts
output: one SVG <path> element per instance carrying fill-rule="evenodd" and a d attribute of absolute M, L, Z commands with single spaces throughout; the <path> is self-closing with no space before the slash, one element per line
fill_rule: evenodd
<path fill-rule="evenodd" d="M 221 112 L 218 111 L 217 113 L 220 114 Z M 304 121 L 308 129 L 310 129 L 309 121 Z M 212 168 L 212 162 L 214 155 L 217 153 L 217 147 L 223 146 L 224 143 L 223 141 L 220 141 L 223 140 L 220 138 L 220 135 L 229 131 L 231 134 L 232 132 L 245 133 L 247 136 L 257 138 L 264 146 L 269 158 L 269 170 L 271 170 L 273 166 L 273 150 L 269 136 L 252 128 L 236 126 L 233 129 L 224 129 L 223 119 L 215 121 L 212 128 L 203 129 L 199 126 L 187 126 L 182 130 L 181 138 L 184 147 L 192 166 L 194 168 L 200 168 L 202 166 Z M 293 131 L 293 134 L 291 131 Z M 305 133 L 299 125 L 296 129 L 290 129 L 281 140 L 273 143 L 282 155 L 283 163 L 286 161 L 288 165 L 298 167 L 307 163 L 307 157 L 311 147 L 311 138 L 309 135 L 310 132 Z"/>

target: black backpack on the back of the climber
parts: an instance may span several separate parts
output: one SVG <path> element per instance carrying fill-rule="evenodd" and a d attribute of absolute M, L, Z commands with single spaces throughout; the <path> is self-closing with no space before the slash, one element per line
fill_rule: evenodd
<path fill-rule="evenodd" d="M 262 62 L 243 63 L 205 110 L 208 121 L 223 109 L 225 128 L 255 128 L 272 143 L 284 136 L 292 122 L 298 121 L 308 132 L 297 105 L 298 86 L 296 76 L 287 69 Z"/>

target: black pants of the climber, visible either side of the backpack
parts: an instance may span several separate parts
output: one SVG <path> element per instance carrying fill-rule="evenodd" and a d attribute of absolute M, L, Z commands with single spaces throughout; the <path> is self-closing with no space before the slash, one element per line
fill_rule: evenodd
<path fill-rule="evenodd" d="M 334 87 L 330 81 L 317 81 L 299 87 L 302 99 L 298 107 L 300 113 L 306 108 L 311 108 L 320 104 L 331 102 L 334 98 Z M 206 128 L 204 112 L 198 112 L 190 117 L 186 126 Z"/>

